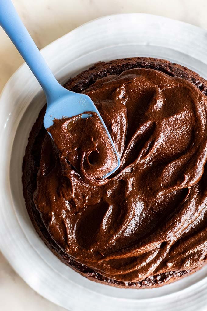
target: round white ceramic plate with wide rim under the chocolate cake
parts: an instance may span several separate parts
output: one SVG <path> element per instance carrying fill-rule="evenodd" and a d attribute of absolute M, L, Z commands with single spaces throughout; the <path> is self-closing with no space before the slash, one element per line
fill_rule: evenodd
<path fill-rule="evenodd" d="M 207 32 L 160 16 L 102 17 L 49 44 L 42 54 L 62 83 L 97 61 L 133 56 L 169 59 L 207 78 Z M 39 294 L 73 311 L 205 311 L 207 267 L 160 288 L 118 289 L 80 276 L 39 239 L 25 208 L 21 165 L 44 103 L 38 82 L 23 64 L 0 98 L 0 249 L 12 267 Z"/>

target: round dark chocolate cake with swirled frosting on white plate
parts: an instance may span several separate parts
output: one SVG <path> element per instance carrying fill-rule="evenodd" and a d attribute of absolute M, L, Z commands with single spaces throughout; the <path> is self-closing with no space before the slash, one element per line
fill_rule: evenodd
<path fill-rule="evenodd" d="M 51 129 L 64 143 L 51 139 L 43 107 L 22 182 L 47 247 L 88 279 L 117 287 L 161 286 L 200 269 L 207 259 L 207 81 L 181 65 L 137 57 L 97 63 L 65 88 L 92 98 L 121 166 L 101 179 L 97 159 L 107 150 L 96 125 L 79 124 L 87 153 L 81 139 L 64 138 L 68 119 Z"/>

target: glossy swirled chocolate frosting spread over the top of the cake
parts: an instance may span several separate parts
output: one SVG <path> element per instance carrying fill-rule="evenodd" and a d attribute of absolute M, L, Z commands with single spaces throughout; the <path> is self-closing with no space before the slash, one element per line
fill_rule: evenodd
<path fill-rule="evenodd" d="M 85 93 L 106 123 L 121 168 L 103 184 L 88 180 L 45 137 L 34 202 L 52 238 L 76 261 L 119 281 L 203 263 L 206 97 L 153 69 L 102 78 Z M 98 142 L 93 126 L 85 137 Z M 78 149 L 79 140 L 71 147 Z"/>

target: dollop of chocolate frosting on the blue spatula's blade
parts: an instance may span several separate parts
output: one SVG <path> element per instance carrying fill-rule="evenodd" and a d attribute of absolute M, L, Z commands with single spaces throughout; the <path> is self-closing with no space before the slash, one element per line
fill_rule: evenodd
<path fill-rule="evenodd" d="M 103 185 L 104 176 L 118 165 L 110 139 L 97 113 L 55 119 L 48 128 L 60 151 L 61 162 L 69 162 L 89 184 Z"/>

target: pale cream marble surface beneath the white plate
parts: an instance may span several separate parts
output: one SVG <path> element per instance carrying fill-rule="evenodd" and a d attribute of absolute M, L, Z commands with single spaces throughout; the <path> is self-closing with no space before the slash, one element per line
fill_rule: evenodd
<path fill-rule="evenodd" d="M 207 30 L 206 0 L 13 0 L 13 3 L 39 49 L 89 20 L 115 13 L 157 14 Z M 0 42 L 1 92 L 23 60 L 2 29 Z M 29 288 L 0 253 L 0 310 L 65 309 Z"/>

